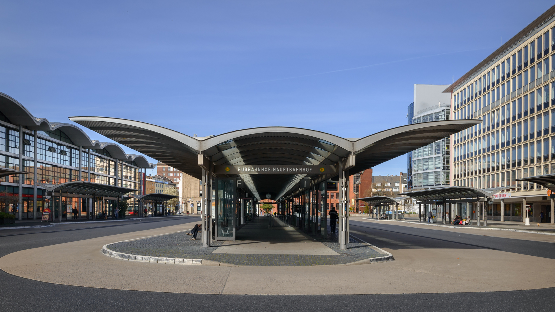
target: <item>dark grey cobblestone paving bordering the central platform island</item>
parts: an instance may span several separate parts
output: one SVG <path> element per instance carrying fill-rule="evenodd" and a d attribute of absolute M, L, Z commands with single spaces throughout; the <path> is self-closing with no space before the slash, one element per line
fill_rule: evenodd
<path fill-rule="evenodd" d="M 191 236 L 185 233 L 180 232 L 140 240 L 123 241 L 111 244 L 108 248 L 127 254 L 206 259 L 236 265 L 331 265 L 383 256 L 366 244 L 352 238 L 349 240 L 349 248 L 341 250 L 339 249 L 339 243 L 337 243 L 337 233 L 335 236 L 331 234 L 325 240 L 316 240 L 321 241 L 340 255 L 213 254 L 212 252 L 223 243 L 222 241 L 213 241 L 213 246 L 204 248 L 200 239 L 190 240 Z"/>

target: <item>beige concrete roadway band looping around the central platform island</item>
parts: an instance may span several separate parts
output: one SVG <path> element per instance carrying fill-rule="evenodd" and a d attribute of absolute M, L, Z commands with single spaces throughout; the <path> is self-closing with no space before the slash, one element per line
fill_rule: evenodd
<path fill-rule="evenodd" d="M 414 223 L 402 224 L 415 226 Z M 424 243 L 431 247 L 385 248 L 393 253 L 395 261 L 366 265 L 175 265 L 125 261 L 100 253 L 102 246 L 114 241 L 140 241 L 140 238 L 152 238 L 153 235 L 162 237 L 190 230 L 193 225 L 194 222 L 190 222 L 21 250 L 0 258 L 0 269 L 45 283 L 203 294 L 462 293 L 547 288 L 553 287 L 555 279 L 554 270 L 522 269 L 507 274 L 507 268 L 514 265 L 550 268 L 555 265 L 554 259 L 473 245 L 449 248 L 449 241 L 427 239 L 420 235 L 406 236 L 410 240 L 408 243 L 421 245 L 422 240 L 426 240 Z M 361 229 L 354 235 L 380 247 L 383 246 L 380 245 L 382 241 L 402 240 L 391 236 L 397 235 L 395 227 L 379 230 L 379 233 L 371 232 L 370 235 L 366 235 L 365 230 Z M 372 237 L 376 235 L 384 240 Z"/>

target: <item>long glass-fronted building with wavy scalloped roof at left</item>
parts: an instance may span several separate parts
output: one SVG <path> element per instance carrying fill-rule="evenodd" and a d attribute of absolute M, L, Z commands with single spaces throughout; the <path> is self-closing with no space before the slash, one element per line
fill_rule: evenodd
<path fill-rule="evenodd" d="M 142 155 L 126 154 L 118 144 L 91 140 L 73 124 L 51 123 L 34 117 L 21 103 L 4 93 L 0 93 L 0 167 L 21 168 L 28 173 L 23 179 L 18 175 L 0 178 L 2 197 L 11 198 L 0 202 L 0 211 L 18 218 L 21 211 L 22 219 L 41 218 L 44 208 L 54 209 L 53 217 L 58 212 L 67 215 L 73 208 L 78 208 L 79 217 L 92 217 L 85 209 L 89 199 L 92 202 L 92 196 L 61 194 L 51 197 L 41 183 L 87 181 L 142 190 L 143 169 L 153 168 Z M 138 202 L 131 196 L 133 194 L 140 195 L 140 192 L 124 196 L 129 210 L 136 212 Z M 94 197 L 94 200 L 93 207 L 111 215 L 118 199 Z M 33 207 L 37 208 L 36 215 Z"/>

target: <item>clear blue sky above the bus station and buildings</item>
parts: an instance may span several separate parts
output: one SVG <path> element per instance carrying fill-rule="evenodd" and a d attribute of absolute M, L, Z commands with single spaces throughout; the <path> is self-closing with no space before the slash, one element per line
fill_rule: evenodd
<path fill-rule="evenodd" d="M 406 124 L 413 84 L 451 83 L 552 4 L 0 1 L 0 92 L 51 122 L 364 137 Z M 374 168 L 405 171 L 405 156 Z"/>

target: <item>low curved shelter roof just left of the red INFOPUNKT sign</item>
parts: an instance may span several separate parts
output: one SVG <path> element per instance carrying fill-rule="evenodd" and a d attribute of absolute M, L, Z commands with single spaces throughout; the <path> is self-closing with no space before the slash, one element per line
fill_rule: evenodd
<path fill-rule="evenodd" d="M 440 201 L 443 200 L 457 200 L 457 199 L 471 199 L 471 198 L 488 198 L 493 194 L 499 193 L 502 190 L 511 189 L 515 187 L 502 187 L 493 189 L 477 189 L 471 187 L 446 187 L 437 189 L 417 190 L 415 192 L 403 193 L 403 195 L 410 196 L 420 202 L 425 201 Z"/>

